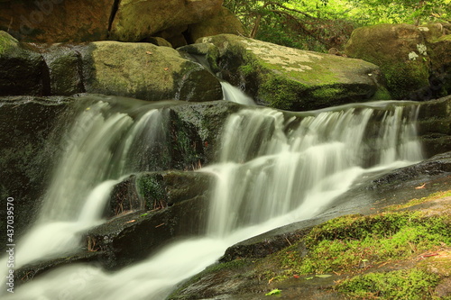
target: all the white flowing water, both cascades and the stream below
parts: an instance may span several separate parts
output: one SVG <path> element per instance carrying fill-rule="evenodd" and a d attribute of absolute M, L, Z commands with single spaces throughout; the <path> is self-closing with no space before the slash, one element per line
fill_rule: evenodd
<path fill-rule="evenodd" d="M 205 236 L 174 242 L 115 273 L 90 264 L 57 268 L 5 298 L 164 299 L 234 243 L 324 212 L 365 173 L 422 159 L 418 110 L 391 102 L 299 114 L 244 106 L 226 121 L 217 163 L 199 170 L 217 177 Z M 61 141 L 65 154 L 38 221 L 17 242 L 16 267 L 77 249 L 80 232 L 105 222 L 113 186 L 153 170 L 152 158 L 166 149 L 166 114 L 152 105 L 115 112 L 99 101 L 78 115 Z"/>

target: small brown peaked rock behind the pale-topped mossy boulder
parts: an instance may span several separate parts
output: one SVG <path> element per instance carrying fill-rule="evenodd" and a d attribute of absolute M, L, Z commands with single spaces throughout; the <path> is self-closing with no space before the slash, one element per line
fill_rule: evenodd
<path fill-rule="evenodd" d="M 226 7 L 222 7 L 219 14 L 216 14 L 207 20 L 190 24 L 188 29 L 189 43 L 193 43 L 206 36 L 221 33 L 246 35 L 243 23 L 241 23 L 240 19 L 238 19 L 235 14 L 232 14 Z"/>

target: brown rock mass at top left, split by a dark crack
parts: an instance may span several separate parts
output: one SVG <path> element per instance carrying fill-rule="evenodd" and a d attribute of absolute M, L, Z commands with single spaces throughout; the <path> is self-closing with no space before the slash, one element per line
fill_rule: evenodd
<path fill-rule="evenodd" d="M 0 1 L 0 30 L 20 41 L 141 41 L 217 14 L 222 0 Z"/>

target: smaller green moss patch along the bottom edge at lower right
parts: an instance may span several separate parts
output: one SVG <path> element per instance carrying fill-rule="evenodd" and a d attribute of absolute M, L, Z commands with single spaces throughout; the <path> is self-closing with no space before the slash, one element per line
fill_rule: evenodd
<path fill-rule="evenodd" d="M 431 299 L 439 277 L 419 268 L 369 273 L 347 279 L 336 289 L 348 296 L 381 299 Z"/>

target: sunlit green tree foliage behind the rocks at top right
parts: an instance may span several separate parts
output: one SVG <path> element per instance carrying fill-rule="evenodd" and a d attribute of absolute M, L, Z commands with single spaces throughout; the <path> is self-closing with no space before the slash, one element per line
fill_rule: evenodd
<path fill-rule="evenodd" d="M 355 27 L 448 21 L 451 0 L 225 0 L 252 38 L 304 50 L 343 48 Z"/>

